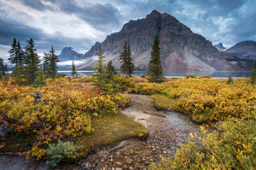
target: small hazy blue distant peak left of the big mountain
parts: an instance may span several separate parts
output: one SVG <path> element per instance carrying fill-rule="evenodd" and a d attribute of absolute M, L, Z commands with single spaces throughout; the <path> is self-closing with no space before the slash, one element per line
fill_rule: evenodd
<path fill-rule="evenodd" d="M 84 59 L 84 55 L 82 53 L 77 53 L 74 50 L 72 50 L 72 47 L 64 47 L 61 50 L 61 54 L 58 55 L 60 58 L 60 61 L 66 61 L 66 60 L 81 60 Z"/>

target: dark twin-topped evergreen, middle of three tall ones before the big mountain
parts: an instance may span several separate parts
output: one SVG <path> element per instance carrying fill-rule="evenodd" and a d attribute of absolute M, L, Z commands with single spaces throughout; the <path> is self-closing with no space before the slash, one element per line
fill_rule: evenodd
<path fill-rule="evenodd" d="M 131 46 L 125 41 L 124 45 L 123 45 L 123 51 L 120 53 L 119 59 L 121 60 L 121 66 L 120 69 L 122 71 L 122 73 L 127 74 L 131 77 L 131 74 L 134 71 L 134 64 L 133 64 L 133 60 L 131 57 Z"/>

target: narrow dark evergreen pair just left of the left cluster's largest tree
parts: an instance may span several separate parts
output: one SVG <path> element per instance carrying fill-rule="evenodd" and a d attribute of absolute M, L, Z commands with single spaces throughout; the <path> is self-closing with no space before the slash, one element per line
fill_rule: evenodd
<path fill-rule="evenodd" d="M 16 39 L 13 38 L 13 43 L 11 43 L 11 45 L 12 48 L 9 50 L 9 60 L 11 61 L 11 64 L 15 64 L 15 66 L 22 66 L 24 52 L 20 46 L 20 41 L 17 43 Z"/>

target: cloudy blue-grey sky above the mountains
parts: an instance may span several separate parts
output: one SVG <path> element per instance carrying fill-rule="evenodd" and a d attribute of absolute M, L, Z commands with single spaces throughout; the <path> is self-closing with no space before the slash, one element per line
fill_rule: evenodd
<path fill-rule="evenodd" d="M 84 53 L 152 10 L 230 47 L 256 40 L 255 9 L 255 0 L 0 0 L 0 57 L 7 59 L 13 37 L 22 46 L 33 38 L 40 55 L 51 46 L 57 54 L 65 46 Z"/>

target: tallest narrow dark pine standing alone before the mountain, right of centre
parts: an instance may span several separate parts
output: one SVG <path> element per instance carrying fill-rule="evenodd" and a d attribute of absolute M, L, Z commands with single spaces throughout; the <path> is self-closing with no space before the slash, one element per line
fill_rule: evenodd
<path fill-rule="evenodd" d="M 161 65 L 161 53 L 159 47 L 159 37 L 158 35 L 154 38 L 154 44 L 152 45 L 152 52 L 150 61 L 148 63 L 148 74 L 150 78 L 148 79 L 150 82 L 161 83 L 163 82 L 163 67 Z"/>

